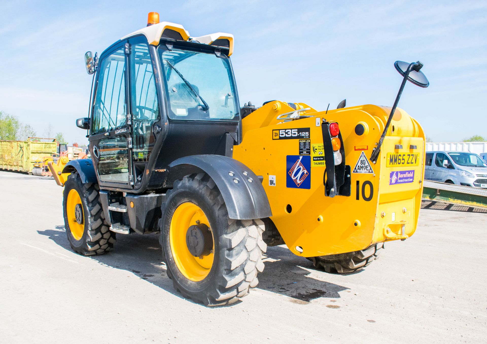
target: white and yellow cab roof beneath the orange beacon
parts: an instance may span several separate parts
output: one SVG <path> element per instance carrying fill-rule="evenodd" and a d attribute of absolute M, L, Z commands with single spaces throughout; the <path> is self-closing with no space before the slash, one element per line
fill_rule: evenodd
<path fill-rule="evenodd" d="M 184 40 L 208 44 L 228 49 L 228 56 L 233 53 L 233 35 L 223 32 L 208 34 L 200 37 L 190 37 L 189 32 L 181 24 L 162 21 L 158 24 L 149 25 L 140 30 L 134 31 L 122 38 L 127 39 L 137 35 L 144 35 L 149 44 L 158 45 L 161 38 Z"/>

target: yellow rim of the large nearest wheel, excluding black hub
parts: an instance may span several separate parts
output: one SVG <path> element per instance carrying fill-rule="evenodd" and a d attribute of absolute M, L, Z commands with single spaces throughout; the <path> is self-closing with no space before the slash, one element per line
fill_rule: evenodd
<path fill-rule="evenodd" d="M 185 202 L 179 205 L 172 215 L 169 226 L 169 244 L 174 262 L 179 271 L 188 280 L 198 282 L 208 276 L 211 270 L 215 245 L 213 244 L 212 253 L 202 258 L 194 257 L 189 252 L 186 244 L 186 232 L 189 226 L 196 224 L 204 224 L 211 229 L 210 223 L 200 207 L 191 202 Z"/>

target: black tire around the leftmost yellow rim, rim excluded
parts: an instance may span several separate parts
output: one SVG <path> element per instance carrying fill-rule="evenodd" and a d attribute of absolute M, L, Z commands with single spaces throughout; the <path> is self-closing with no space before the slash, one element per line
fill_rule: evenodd
<path fill-rule="evenodd" d="M 79 240 L 76 240 L 71 232 L 66 211 L 68 193 L 72 189 L 75 189 L 81 198 L 84 214 L 84 231 Z M 109 230 L 109 225 L 105 221 L 99 190 L 96 183 L 83 184 L 78 172 L 71 172 L 64 185 L 63 214 L 66 234 L 71 248 L 84 256 L 107 253 L 113 249 L 116 241 L 115 233 Z"/>

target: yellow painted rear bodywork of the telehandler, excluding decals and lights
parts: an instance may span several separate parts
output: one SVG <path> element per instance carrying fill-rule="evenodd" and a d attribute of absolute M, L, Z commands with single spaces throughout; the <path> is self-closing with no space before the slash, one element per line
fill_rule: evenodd
<path fill-rule="evenodd" d="M 298 105 L 301 109 L 311 108 L 304 103 Z M 300 115 L 320 117 L 318 123 L 321 118 L 338 122 L 345 163 L 353 170 L 362 152 L 369 160 L 390 110 L 387 107 L 362 105 L 329 110 L 326 115 L 324 111 L 317 112 L 311 108 Z M 299 155 L 299 139 L 272 139 L 272 131 L 309 128 L 311 145 L 319 147 L 323 143 L 316 117 L 287 122 L 276 118 L 292 111 L 291 107 L 280 101 L 267 103 L 254 111 L 243 119 L 243 141 L 233 149 L 235 159 L 263 176 L 262 184 L 273 214 L 271 219 L 287 247 L 297 255 L 311 257 L 356 251 L 373 243 L 411 236 L 416 229 L 424 174 L 425 136 L 421 126 L 404 110 L 397 109 L 378 161 L 375 164 L 369 161 L 374 173 L 351 173 L 351 196 L 330 198 L 325 196 L 323 186 L 324 166 L 311 167 L 311 175 L 308 176 L 311 178 L 311 189 L 286 187 L 286 155 Z M 358 123 L 365 127 L 363 135 L 355 134 Z M 395 150 L 396 144 L 402 145 L 403 149 Z M 417 148 L 410 150 L 410 145 Z M 418 153 L 418 166 L 387 167 L 384 163 L 387 153 Z M 405 170 L 414 170 L 412 183 L 389 185 L 390 172 Z M 269 186 L 269 175 L 276 176 L 276 186 Z M 358 200 L 357 181 L 360 191 Z M 370 201 L 362 197 L 362 186 L 366 181 L 372 183 L 374 189 Z M 369 198 L 370 186 L 366 185 L 364 189 L 365 198 Z M 288 204 L 292 206 L 291 213 L 286 211 Z M 405 225 L 404 235 L 401 233 L 402 225 Z M 302 248 L 302 253 L 296 250 L 297 246 Z"/>

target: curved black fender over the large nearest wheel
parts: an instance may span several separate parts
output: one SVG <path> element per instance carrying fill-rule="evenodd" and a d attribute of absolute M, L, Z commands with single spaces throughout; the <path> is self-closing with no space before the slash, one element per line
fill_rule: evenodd
<path fill-rule="evenodd" d="M 188 172 L 206 172 L 222 193 L 231 219 L 253 220 L 272 216 L 261 181 L 240 161 L 222 155 L 190 155 L 174 160 L 169 167 L 171 172 L 185 172 L 175 173 L 180 176 L 190 174 Z"/>

